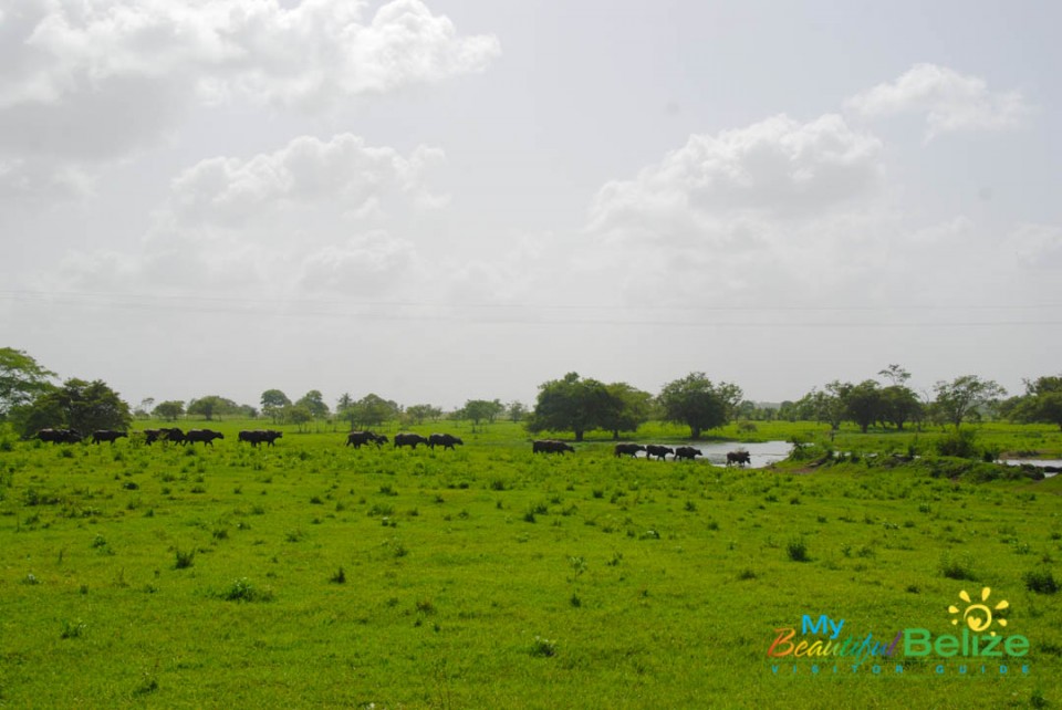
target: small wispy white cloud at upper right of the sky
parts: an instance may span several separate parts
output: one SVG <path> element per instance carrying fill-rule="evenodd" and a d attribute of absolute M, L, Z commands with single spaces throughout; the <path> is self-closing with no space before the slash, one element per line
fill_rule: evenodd
<path fill-rule="evenodd" d="M 985 80 L 936 64 L 916 64 L 896 81 L 852 96 L 845 107 L 871 118 L 924 114 L 927 139 L 952 132 L 1013 128 L 1030 112 L 1021 93 L 991 92 Z"/>

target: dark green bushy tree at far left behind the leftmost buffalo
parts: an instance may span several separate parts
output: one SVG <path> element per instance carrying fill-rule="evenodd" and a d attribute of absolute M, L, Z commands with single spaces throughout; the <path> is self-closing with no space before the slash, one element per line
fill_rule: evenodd
<path fill-rule="evenodd" d="M 129 405 L 103 380 L 71 378 L 13 413 L 23 437 L 39 429 L 66 427 L 87 434 L 96 429 L 125 430 L 133 420 Z"/>

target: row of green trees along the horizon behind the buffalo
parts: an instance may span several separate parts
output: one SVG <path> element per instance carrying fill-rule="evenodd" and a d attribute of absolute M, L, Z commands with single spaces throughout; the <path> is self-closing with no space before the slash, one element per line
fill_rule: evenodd
<path fill-rule="evenodd" d="M 132 410 L 121 396 L 102 380 L 69 378 L 55 384 L 55 373 L 42 367 L 27 353 L 0 348 L 0 420 L 12 424 L 22 436 L 40 429 L 67 427 L 80 431 L 129 427 L 134 416 L 154 416 L 177 420 L 198 416 L 268 417 L 275 424 L 300 429 L 321 419 L 346 422 L 350 428 L 372 428 L 387 421 L 420 425 L 441 418 L 471 421 L 473 427 L 500 418 L 523 421 L 528 431 L 571 432 L 576 441 L 589 431 L 611 432 L 614 439 L 634 434 L 645 422 L 664 420 L 689 427 L 690 438 L 699 439 L 710 429 L 733 419 L 788 419 L 827 422 L 837 429 L 845 421 L 864 432 L 872 426 L 895 428 L 928 424 L 954 426 L 983 417 L 1012 421 L 1044 422 L 1062 428 L 1062 375 L 1023 380 L 1025 391 L 1007 398 L 998 383 L 977 375 L 962 375 L 938 382 L 933 395 L 918 394 L 908 386 L 910 373 L 889 365 L 877 373 L 879 379 L 861 383 L 830 382 L 796 401 L 778 406 L 758 406 L 743 399 L 741 388 L 726 382 L 712 382 L 702 372 L 694 372 L 665 384 L 656 395 L 627 383 L 603 383 L 568 373 L 539 386 L 534 407 L 519 401 L 469 399 L 451 413 L 433 405 L 403 407 L 376 394 L 354 399 L 343 394 L 332 409 L 320 390 L 313 389 L 292 400 L 280 389 L 261 395 L 261 408 L 239 405 L 219 395 L 156 404 L 148 398 Z"/>

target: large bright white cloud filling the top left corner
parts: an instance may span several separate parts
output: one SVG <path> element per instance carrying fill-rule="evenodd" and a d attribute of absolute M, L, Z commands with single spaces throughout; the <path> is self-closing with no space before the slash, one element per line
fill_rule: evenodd
<path fill-rule="evenodd" d="M 368 20 L 366 8 L 21 0 L 0 18 L 0 159 L 100 164 L 155 145 L 197 106 L 320 111 L 480 72 L 500 53 L 497 38 L 460 35 L 419 0 Z"/>

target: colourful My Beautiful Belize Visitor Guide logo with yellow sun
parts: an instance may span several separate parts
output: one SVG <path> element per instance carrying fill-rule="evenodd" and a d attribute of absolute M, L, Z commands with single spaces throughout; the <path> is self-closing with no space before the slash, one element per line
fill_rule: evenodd
<path fill-rule="evenodd" d="M 1029 639 L 1021 634 L 1002 634 L 1008 626 L 1006 613 L 1010 603 L 1007 599 L 993 603 L 991 595 L 990 587 L 982 587 L 977 599 L 966 589 L 959 592 L 965 605 L 947 607 L 951 626 L 961 627 L 955 634 L 934 635 L 920 626 L 879 635 L 845 634 L 846 619 L 842 617 L 804 614 L 799 636 L 795 625 L 774 629 L 773 641 L 767 649 L 770 668 L 774 675 L 782 672 L 780 664 L 787 664 L 785 675 L 867 670 L 875 675 L 895 675 L 905 669 L 909 672 L 928 669 L 937 675 L 1006 675 L 1017 662 L 1020 672 L 1028 675 L 1029 666 L 1022 661 L 1029 654 Z"/>

